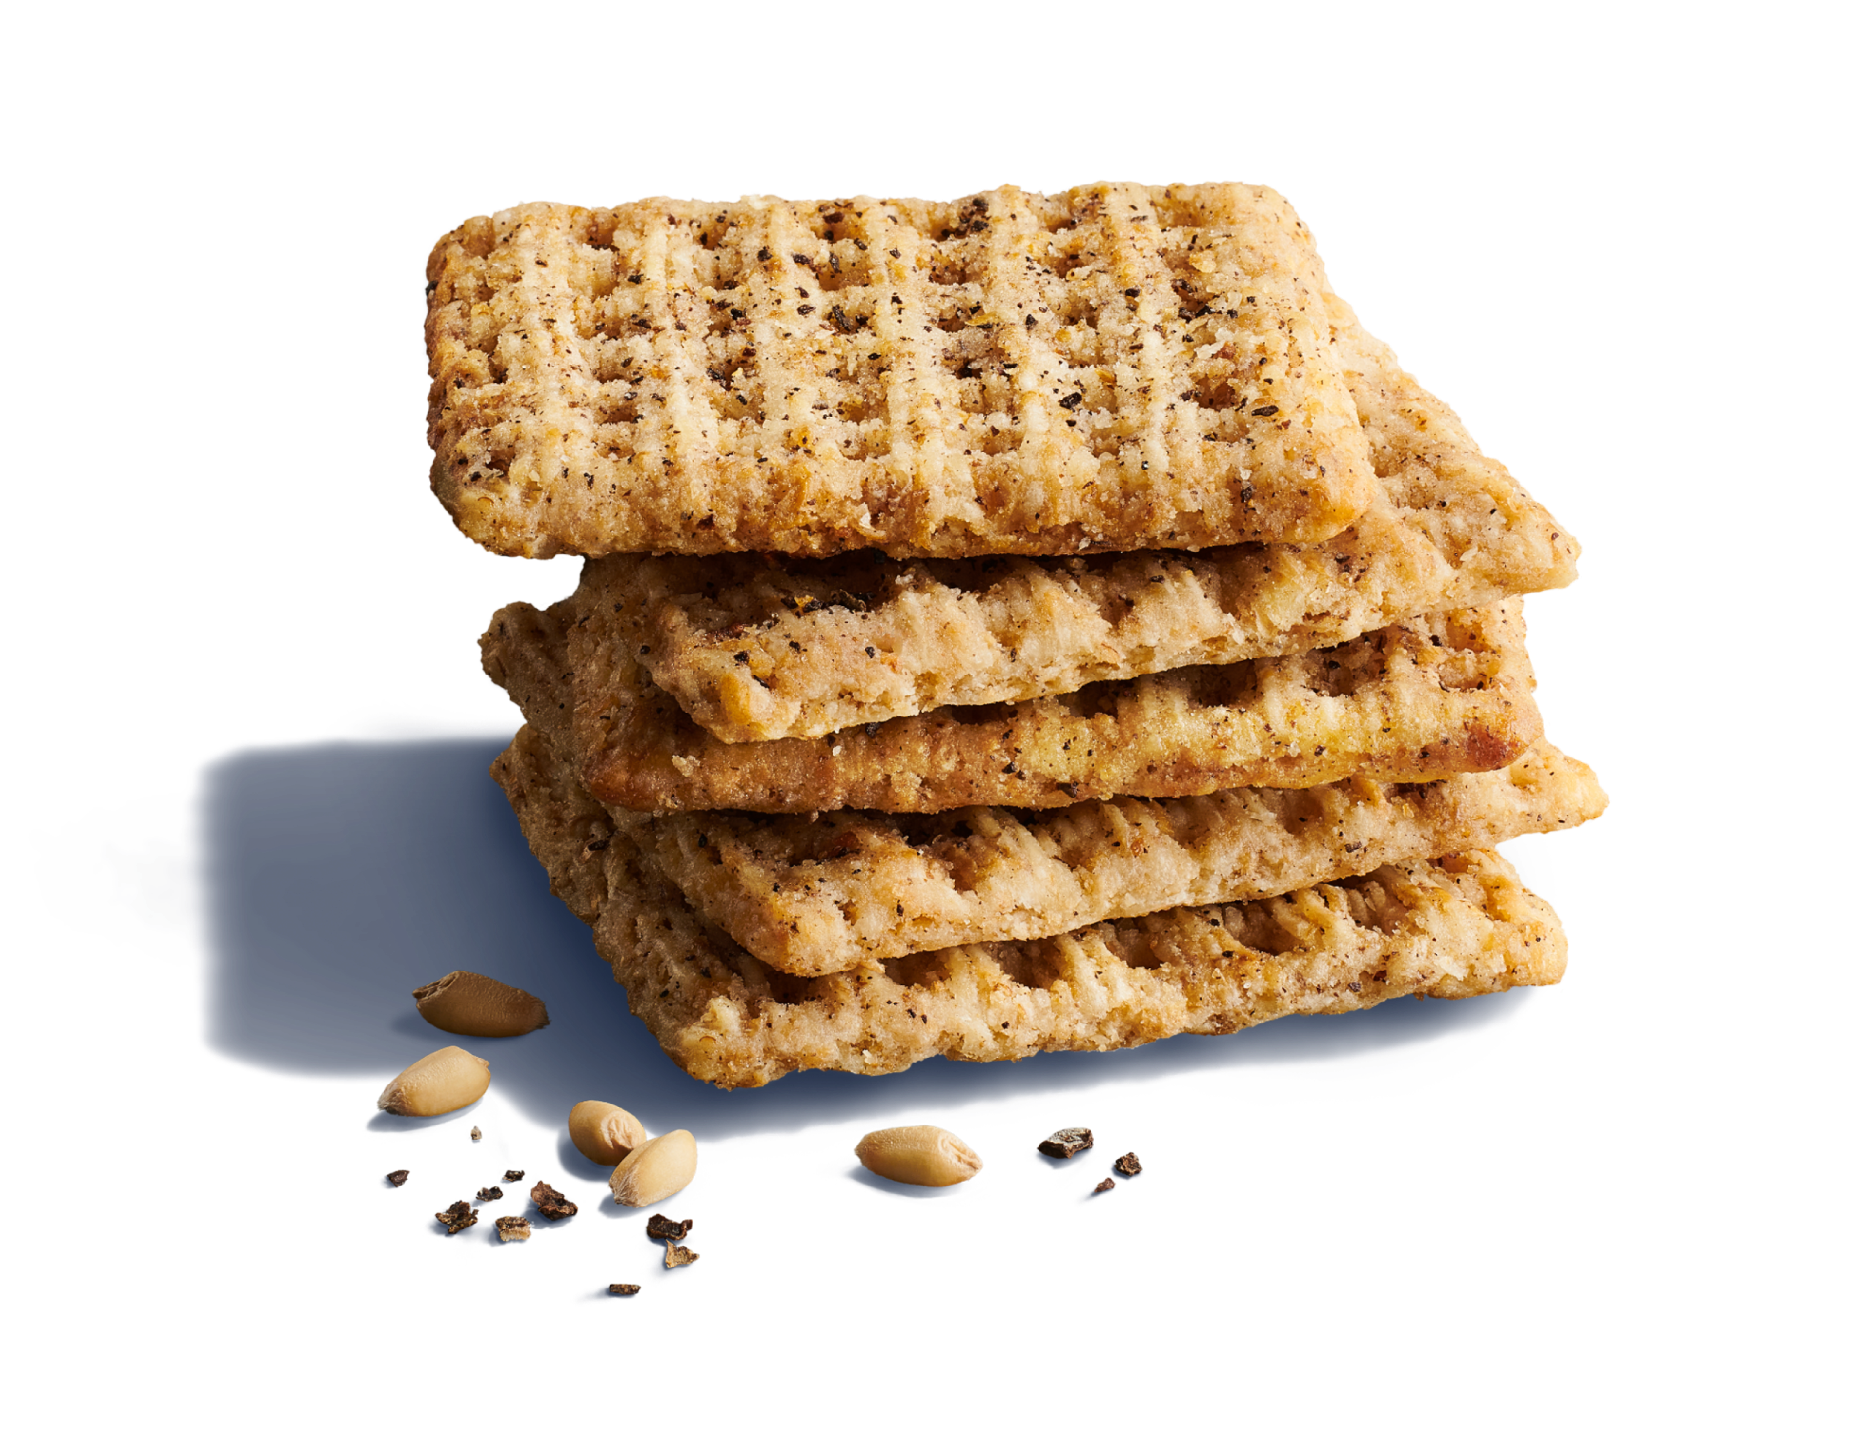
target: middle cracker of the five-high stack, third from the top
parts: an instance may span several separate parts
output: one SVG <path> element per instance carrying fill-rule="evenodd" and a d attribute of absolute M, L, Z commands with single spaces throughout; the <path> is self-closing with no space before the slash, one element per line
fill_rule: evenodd
<path fill-rule="evenodd" d="M 727 744 L 617 637 L 568 641 L 566 601 L 510 601 L 482 671 L 632 811 L 948 811 L 1108 796 L 1437 781 L 1507 766 L 1542 734 L 1524 601 L 1420 616 L 1329 650 L 1190 665 L 1072 695 Z"/>

